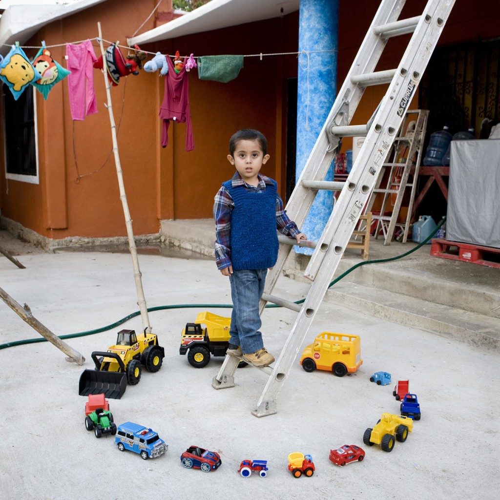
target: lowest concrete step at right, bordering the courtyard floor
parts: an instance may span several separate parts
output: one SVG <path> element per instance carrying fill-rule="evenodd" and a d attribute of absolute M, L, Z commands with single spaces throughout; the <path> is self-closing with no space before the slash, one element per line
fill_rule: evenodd
<path fill-rule="evenodd" d="M 500 349 L 498 319 L 484 314 L 353 282 L 335 283 L 324 300 L 476 347 Z"/>

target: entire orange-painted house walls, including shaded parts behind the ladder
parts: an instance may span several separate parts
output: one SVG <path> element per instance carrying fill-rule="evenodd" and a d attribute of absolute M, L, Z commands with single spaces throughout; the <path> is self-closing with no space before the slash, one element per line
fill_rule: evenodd
<path fill-rule="evenodd" d="M 156 3 L 108 0 L 57 22 L 52 22 L 26 44 L 44 39 L 47 45 L 97 35 L 125 44 Z M 340 0 L 338 86 L 358 50 L 378 2 L 363 9 Z M 420 13 L 424 0 L 408 2 L 402 16 Z M 133 7 L 133 8 L 132 8 Z M 133 11 L 133 16 L 129 12 Z M 141 29 L 153 27 L 151 18 Z M 456 0 L 439 44 L 497 36 L 500 5 L 496 0 Z M 298 13 L 240 26 L 198 33 L 144 45 L 155 52 L 199 55 L 255 54 L 297 50 Z M 389 41 L 379 69 L 395 67 L 402 42 Z M 98 46 L 94 42 L 98 54 Z M 126 52 L 123 50 L 123 52 Z M 64 64 L 64 47 L 53 49 Z M 28 53 L 28 55 L 34 55 Z M 163 78 L 158 73 L 130 75 L 111 89 L 118 128 L 118 146 L 125 189 L 135 234 L 157 232 L 159 219 L 210 217 L 213 195 L 232 175 L 227 162 L 230 135 L 242 127 L 260 129 L 268 138 L 270 161 L 262 170 L 274 177 L 283 195 L 286 165 L 286 80 L 296 76 L 295 55 L 245 57 L 239 76 L 228 82 L 199 80 L 189 75 L 189 102 L 195 149 L 186 152 L 185 124 L 169 129 L 169 145 L 160 146 L 158 109 Z M 0 174 L 2 214 L 52 238 L 65 236 L 124 235 L 124 217 L 111 153 L 109 119 L 102 74 L 94 70 L 98 113 L 73 123 L 67 82 L 56 85 L 43 101 L 38 94 L 39 185 L 9 180 Z M 353 123 L 364 123 L 383 95 L 384 88 L 368 88 Z M 416 107 L 416 102 L 412 104 Z M 74 128 L 74 133 L 73 133 Z M 344 141 L 344 149 L 349 147 Z M 3 158 L 3 155 L 1 155 Z M 106 161 L 107 159 L 107 161 Z M 3 161 L 3 160 L 2 160 Z M 2 165 L 3 166 L 3 165 Z M 1 169 L 2 172 L 4 168 Z M 81 176 L 77 180 L 77 176 Z M 89 174 L 89 175 L 86 175 Z"/>

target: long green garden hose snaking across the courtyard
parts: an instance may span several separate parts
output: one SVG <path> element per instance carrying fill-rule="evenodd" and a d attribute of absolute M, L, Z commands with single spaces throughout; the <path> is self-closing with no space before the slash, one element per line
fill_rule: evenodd
<path fill-rule="evenodd" d="M 429 234 L 421 243 L 416 245 L 415 247 L 411 248 L 411 250 L 408 250 L 407 252 L 402 253 L 401 255 L 396 255 L 395 257 L 388 257 L 388 258 L 377 258 L 374 260 L 363 260 L 361 262 L 358 262 L 357 264 L 354 264 L 352 267 L 349 267 L 346 271 L 342 272 L 339 276 L 337 276 L 333 281 L 330 282 L 328 285 L 328 288 L 333 286 L 337 281 L 340 281 L 340 279 L 344 278 L 347 274 L 352 272 L 354 269 L 357 267 L 360 267 L 361 265 L 366 265 L 366 264 L 378 264 L 382 262 L 390 262 L 392 260 L 397 260 L 402 257 L 406 257 L 410 253 L 413 253 L 415 250 L 420 248 L 420 246 L 424 245 L 434 234 L 437 232 L 437 229 L 441 227 L 441 225 L 446 221 L 446 217 L 443 217 L 440 222 L 437 224 L 437 227 L 434 229 L 434 231 Z M 301 304 L 305 298 L 302 298 L 300 300 L 296 300 L 296 304 Z M 281 307 L 280 305 L 277 304 L 267 304 L 266 307 Z M 152 311 L 159 311 L 159 310 L 164 310 L 164 309 L 187 309 L 187 308 L 232 308 L 232 304 L 170 304 L 170 305 L 157 305 L 156 307 L 148 307 L 147 311 L 152 312 Z M 135 311 L 130 314 L 128 314 L 125 317 L 122 317 L 121 319 L 118 319 L 118 321 L 115 321 L 112 324 L 108 324 L 107 326 L 102 326 L 100 328 L 95 328 L 93 330 L 86 330 L 86 331 L 80 331 L 78 333 L 68 333 L 67 335 L 60 335 L 59 338 L 65 339 L 65 338 L 75 338 L 75 337 L 84 337 L 86 335 L 93 335 L 94 333 L 100 333 L 101 331 L 106 331 L 110 330 L 111 328 L 114 328 L 115 326 L 118 326 L 125 321 L 128 321 L 132 317 L 138 316 L 140 314 L 140 311 Z M 36 337 L 36 338 L 27 338 L 25 340 L 14 340 L 12 342 L 6 342 L 3 344 L 0 344 L 0 349 L 5 349 L 7 347 L 13 347 L 14 345 L 23 345 L 23 344 L 29 344 L 29 343 L 36 343 L 36 342 L 46 342 L 47 339 L 44 337 Z"/>

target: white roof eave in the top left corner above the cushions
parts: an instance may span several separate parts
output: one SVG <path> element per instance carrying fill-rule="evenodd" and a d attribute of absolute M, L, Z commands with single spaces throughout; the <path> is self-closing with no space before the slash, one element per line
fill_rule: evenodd
<path fill-rule="evenodd" d="M 16 41 L 22 45 L 36 31 L 49 22 L 73 15 L 106 0 L 81 0 L 76 3 L 57 5 L 10 5 L 0 18 L 0 54 L 5 55 Z M 41 40 L 40 40 L 41 41 Z M 64 41 L 72 40 L 60 40 Z"/>

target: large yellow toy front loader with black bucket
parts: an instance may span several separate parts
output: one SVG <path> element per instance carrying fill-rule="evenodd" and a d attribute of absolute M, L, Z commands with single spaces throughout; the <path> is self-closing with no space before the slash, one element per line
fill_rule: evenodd
<path fill-rule="evenodd" d="M 80 375 L 78 393 L 80 396 L 104 393 L 105 397 L 119 399 L 125 392 L 127 382 L 139 382 L 142 366 L 147 371 L 156 372 L 161 368 L 165 350 L 158 345 L 154 333 L 142 333 L 138 337 L 135 330 L 120 330 L 116 344 L 107 351 L 93 351 L 95 369 L 86 369 Z"/>

